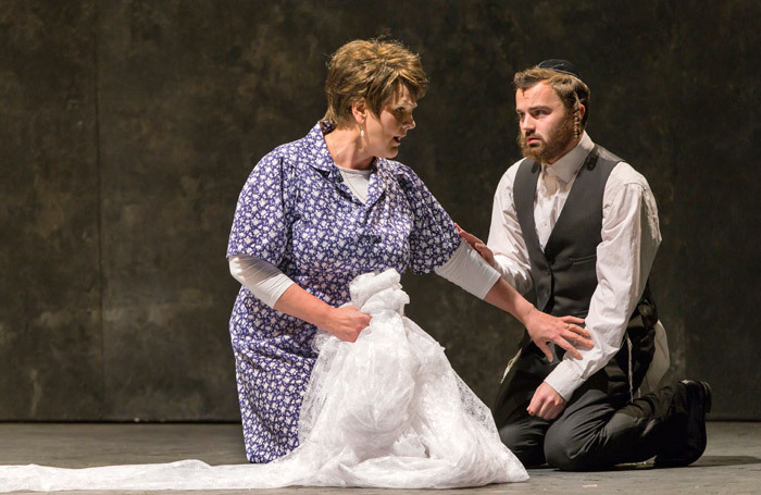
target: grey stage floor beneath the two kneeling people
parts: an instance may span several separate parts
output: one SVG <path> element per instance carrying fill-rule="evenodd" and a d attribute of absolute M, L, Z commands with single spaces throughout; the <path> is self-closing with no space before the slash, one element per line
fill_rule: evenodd
<path fill-rule="evenodd" d="M 651 463 L 613 471 L 570 473 L 529 470 L 524 483 L 448 490 L 467 494 L 760 494 L 761 423 L 711 422 L 703 457 L 688 468 L 652 469 Z M 236 424 L 46 424 L 0 423 L 0 465 L 38 463 L 82 468 L 115 463 L 201 459 L 211 465 L 245 462 Z M 255 494 L 431 494 L 431 490 L 367 488 L 259 490 L 212 493 Z M 22 493 L 22 492 L 16 492 Z M 73 493 L 73 492 L 59 492 Z M 88 495 L 116 492 L 87 492 Z M 129 492 L 132 494 L 149 492 Z M 152 492 L 164 495 L 201 492 Z M 209 492 L 203 492 L 209 493 Z"/>

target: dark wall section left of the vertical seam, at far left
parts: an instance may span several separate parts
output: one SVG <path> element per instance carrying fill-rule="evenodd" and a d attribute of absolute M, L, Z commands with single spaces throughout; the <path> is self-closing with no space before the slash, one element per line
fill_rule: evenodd
<path fill-rule="evenodd" d="M 0 418 L 100 418 L 95 4 L 0 7 Z"/>

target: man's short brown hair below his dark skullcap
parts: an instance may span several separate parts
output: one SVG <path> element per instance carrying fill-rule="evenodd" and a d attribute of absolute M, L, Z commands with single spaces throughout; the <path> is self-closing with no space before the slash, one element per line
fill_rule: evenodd
<path fill-rule="evenodd" d="M 578 77 L 549 69 L 526 69 L 513 77 L 515 89 L 523 91 L 542 82 L 547 82 L 563 101 L 563 106 L 576 121 L 576 135 L 581 135 L 589 116 L 589 87 Z M 585 110 L 581 120 L 578 117 L 579 104 L 583 104 Z"/>

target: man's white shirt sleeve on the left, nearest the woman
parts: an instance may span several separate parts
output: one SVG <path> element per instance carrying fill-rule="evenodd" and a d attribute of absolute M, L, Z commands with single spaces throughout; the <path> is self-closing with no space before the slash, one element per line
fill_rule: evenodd
<path fill-rule="evenodd" d="M 526 294 L 533 285 L 531 262 L 513 201 L 519 163 L 508 169 L 497 186 L 486 245 L 495 255 L 494 268 L 515 290 Z"/>

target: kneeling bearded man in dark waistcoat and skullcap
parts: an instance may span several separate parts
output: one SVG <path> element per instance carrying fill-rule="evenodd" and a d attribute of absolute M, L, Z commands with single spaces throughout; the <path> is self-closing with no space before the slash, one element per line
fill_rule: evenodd
<path fill-rule="evenodd" d="M 706 449 L 710 387 L 640 395 L 668 367 L 648 287 L 661 242 L 650 186 L 586 134 L 589 88 L 572 63 L 541 62 L 514 84 L 525 158 L 497 187 L 487 245 L 461 235 L 538 309 L 584 318 L 595 347 L 550 360 L 524 336 L 494 407 L 502 442 L 526 466 L 687 466 Z"/>

